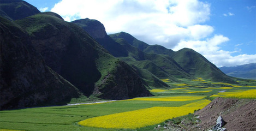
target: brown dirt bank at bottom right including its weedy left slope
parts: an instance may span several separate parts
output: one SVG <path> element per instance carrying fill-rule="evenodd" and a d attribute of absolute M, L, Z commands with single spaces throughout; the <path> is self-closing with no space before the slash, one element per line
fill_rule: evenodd
<path fill-rule="evenodd" d="M 179 123 L 169 121 L 165 127 L 154 130 L 210 130 L 219 116 L 222 116 L 223 127 L 228 131 L 256 130 L 256 99 L 216 98 L 195 112 L 193 117 L 184 117 Z"/>

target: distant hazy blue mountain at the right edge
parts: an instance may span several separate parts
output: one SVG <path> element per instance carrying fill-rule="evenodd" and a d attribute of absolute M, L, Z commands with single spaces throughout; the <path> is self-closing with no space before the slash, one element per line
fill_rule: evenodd
<path fill-rule="evenodd" d="M 219 68 L 225 74 L 242 79 L 256 79 L 256 63 L 243 64 L 235 67 L 221 67 Z"/>

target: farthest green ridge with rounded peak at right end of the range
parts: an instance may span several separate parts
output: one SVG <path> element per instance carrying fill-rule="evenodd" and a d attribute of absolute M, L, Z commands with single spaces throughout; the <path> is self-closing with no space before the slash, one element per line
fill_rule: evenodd
<path fill-rule="evenodd" d="M 219 82 L 236 83 L 234 79 L 225 75 L 204 56 L 192 49 L 184 48 L 175 52 L 160 45 L 148 45 L 124 32 L 111 34 L 110 36 L 114 39 L 124 39 L 128 41 L 130 45 L 133 45 L 146 53 L 154 53 L 171 59 L 172 63 L 176 65 L 176 68 L 172 66 L 173 70 L 170 70 L 170 72 L 174 73 L 172 76 L 175 76 L 176 78 L 204 78 Z M 165 66 L 166 63 L 162 62 L 162 64 Z M 182 72 L 177 72 L 177 70 L 182 70 Z"/>

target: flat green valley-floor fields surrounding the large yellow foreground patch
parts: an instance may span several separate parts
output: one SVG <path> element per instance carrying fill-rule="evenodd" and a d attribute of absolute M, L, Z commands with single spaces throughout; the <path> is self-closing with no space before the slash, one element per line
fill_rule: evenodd
<path fill-rule="evenodd" d="M 186 108 L 193 108 L 193 111 L 194 111 L 194 110 L 203 108 L 202 105 L 193 106 L 193 104 L 196 104 L 197 102 L 198 103 L 201 103 L 203 101 L 207 102 L 206 99 L 208 100 L 214 99 L 216 95 L 218 95 L 218 97 L 219 96 L 224 97 L 225 94 L 221 94 L 220 92 L 242 94 L 241 92 L 249 91 L 249 92 L 252 92 L 252 97 L 249 97 L 249 98 L 253 98 L 253 99 L 256 98 L 256 86 L 255 86 L 256 82 L 255 81 L 237 81 L 239 82 L 239 84 L 226 84 L 222 82 L 212 82 L 212 81 L 202 80 L 202 79 L 183 80 L 182 83 L 171 83 L 171 82 L 168 82 L 168 80 L 164 80 L 164 81 L 170 85 L 170 88 L 163 88 L 160 90 L 156 90 L 152 88 L 151 92 L 152 94 L 155 95 L 154 97 L 135 98 L 135 99 L 129 99 L 129 100 L 117 100 L 114 102 L 106 102 L 106 103 L 99 103 L 99 104 L 50 106 L 50 107 L 42 107 L 42 108 L 27 108 L 27 109 L 19 109 L 19 110 L 0 111 L 0 129 L 134 130 L 134 129 L 122 129 L 122 128 L 85 127 L 78 124 L 78 122 L 87 120 L 88 118 L 93 118 L 93 117 L 98 118 L 98 116 L 109 115 L 111 117 L 114 117 L 115 115 L 113 114 L 125 115 L 127 112 L 133 113 L 136 111 L 140 111 L 141 113 L 141 111 L 143 112 L 144 110 L 145 110 L 145 115 L 147 115 L 149 113 L 147 113 L 146 111 L 150 111 L 150 109 L 152 110 L 159 109 L 159 112 L 162 111 L 159 117 L 165 116 L 165 115 L 168 116 L 170 112 L 166 110 L 162 110 L 162 109 L 166 109 L 165 107 L 174 107 L 174 109 L 186 107 Z M 231 97 L 236 98 L 236 96 L 231 96 Z M 237 98 L 243 98 L 243 96 L 240 95 Z M 246 94 L 244 98 L 246 98 Z M 155 114 L 159 112 L 156 112 Z M 189 113 L 193 113 L 193 112 L 189 112 Z M 132 118 L 132 115 L 130 116 Z M 127 119 L 129 118 L 129 116 L 126 116 L 126 117 Z M 103 119 L 104 117 L 99 117 L 99 118 Z M 166 118 L 166 119 L 171 119 L 171 118 L 172 117 Z M 117 119 L 117 118 L 113 118 L 113 119 Z M 164 120 L 162 122 L 164 122 Z M 155 126 L 157 126 L 157 124 L 159 123 L 149 124 L 148 126 L 137 128 L 136 130 L 151 130 Z M 124 124 L 129 124 L 129 123 L 124 123 Z"/>

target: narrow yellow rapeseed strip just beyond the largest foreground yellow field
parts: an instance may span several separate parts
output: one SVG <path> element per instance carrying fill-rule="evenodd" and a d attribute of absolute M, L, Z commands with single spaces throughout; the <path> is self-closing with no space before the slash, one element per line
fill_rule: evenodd
<path fill-rule="evenodd" d="M 129 100 L 150 100 L 150 101 L 173 101 L 173 102 L 182 102 L 188 100 L 198 100 L 203 99 L 205 96 L 177 96 L 177 97 L 162 97 L 162 98 L 150 98 L 150 97 L 139 97 Z"/>

